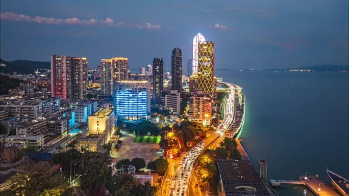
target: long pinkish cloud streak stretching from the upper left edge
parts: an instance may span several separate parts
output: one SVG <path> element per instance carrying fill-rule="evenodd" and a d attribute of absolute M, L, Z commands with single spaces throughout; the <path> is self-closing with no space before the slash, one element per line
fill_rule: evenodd
<path fill-rule="evenodd" d="M 2 20 L 12 20 L 12 21 L 23 21 L 23 22 L 34 22 L 34 23 L 43 23 L 43 24 L 66 24 L 66 25 L 106 25 L 106 26 L 121 26 L 121 27 L 137 27 L 138 29 L 147 29 L 147 30 L 157 30 L 161 29 L 160 24 L 152 24 L 146 22 L 144 24 L 131 24 L 124 22 L 114 22 L 112 18 L 106 18 L 106 20 L 96 20 L 94 18 L 90 20 L 81 20 L 76 17 L 58 19 L 58 18 L 46 18 L 41 16 L 27 16 L 23 14 L 16 14 L 13 12 L 0 12 L 0 19 Z"/>

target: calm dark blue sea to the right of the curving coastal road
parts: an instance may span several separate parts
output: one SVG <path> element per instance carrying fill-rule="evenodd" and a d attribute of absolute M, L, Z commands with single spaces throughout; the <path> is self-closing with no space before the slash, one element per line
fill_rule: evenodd
<path fill-rule="evenodd" d="M 267 161 L 268 179 L 298 180 L 326 169 L 348 179 L 349 73 L 216 70 L 246 97 L 240 139 L 257 172 Z M 302 185 L 275 188 L 280 196 L 314 195 Z"/>

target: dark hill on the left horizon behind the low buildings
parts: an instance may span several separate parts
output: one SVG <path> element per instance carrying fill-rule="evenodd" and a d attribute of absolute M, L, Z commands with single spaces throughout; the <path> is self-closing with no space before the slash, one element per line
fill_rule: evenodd
<path fill-rule="evenodd" d="M 1 64 L 6 66 L 0 66 L 0 72 L 12 74 L 13 72 L 17 73 L 34 73 L 36 69 L 45 68 L 51 69 L 50 62 L 41 62 L 41 61 L 27 61 L 27 60 L 16 60 L 16 61 L 5 61 L 0 59 Z"/>

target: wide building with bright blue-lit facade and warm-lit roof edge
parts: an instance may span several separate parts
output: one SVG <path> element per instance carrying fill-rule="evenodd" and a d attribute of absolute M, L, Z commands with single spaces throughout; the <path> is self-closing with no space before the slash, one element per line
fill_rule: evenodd
<path fill-rule="evenodd" d="M 151 84 L 142 80 L 123 80 L 114 83 L 115 115 L 126 121 L 147 119 L 150 115 Z"/>

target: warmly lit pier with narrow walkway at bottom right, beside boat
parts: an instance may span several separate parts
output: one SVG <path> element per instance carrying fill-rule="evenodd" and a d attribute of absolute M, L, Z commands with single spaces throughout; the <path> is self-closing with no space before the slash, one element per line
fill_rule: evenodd
<path fill-rule="evenodd" d="M 340 196 L 325 182 L 317 176 L 300 176 L 300 180 L 270 180 L 271 186 L 281 186 L 282 184 L 302 184 L 306 185 L 317 196 Z"/>

